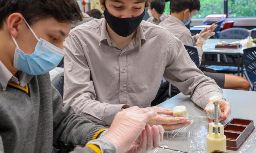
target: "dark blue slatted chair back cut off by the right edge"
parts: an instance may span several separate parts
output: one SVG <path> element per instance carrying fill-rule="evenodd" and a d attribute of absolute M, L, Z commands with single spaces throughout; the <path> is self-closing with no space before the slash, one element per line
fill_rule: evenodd
<path fill-rule="evenodd" d="M 252 83 L 252 90 L 256 89 L 256 47 L 244 49 L 244 65 L 247 76 Z"/>

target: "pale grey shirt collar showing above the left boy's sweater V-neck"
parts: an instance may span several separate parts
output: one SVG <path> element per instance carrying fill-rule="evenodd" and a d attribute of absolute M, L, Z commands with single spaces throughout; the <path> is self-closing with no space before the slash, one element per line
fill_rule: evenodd
<path fill-rule="evenodd" d="M 3 90 L 6 90 L 8 82 L 18 84 L 22 87 L 25 87 L 28 84 L 29 80 L 33 77 L 25 72 L 18 71 L 19 79 L 14 77 L 12 73 L 4 66 L 0 60 L 0 84 L 3 87 Z"/>

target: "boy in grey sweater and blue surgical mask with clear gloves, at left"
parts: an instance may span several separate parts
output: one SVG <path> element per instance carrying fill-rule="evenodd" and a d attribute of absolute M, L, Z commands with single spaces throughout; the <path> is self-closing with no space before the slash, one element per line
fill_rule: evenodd
<path fill-rule="evenodd" d="M 82 20 L 75 0 L 0 0 L 0 14 L 1 153 L 76 145 L 83 148 L 74 153 L 142 153 L 163 140 L 161 125 L 146 126 L 155 111 L 131 107 L 117 113 L 107 130 L 63 107 L 48 72 L 65 54 L 71 22 Z"/>

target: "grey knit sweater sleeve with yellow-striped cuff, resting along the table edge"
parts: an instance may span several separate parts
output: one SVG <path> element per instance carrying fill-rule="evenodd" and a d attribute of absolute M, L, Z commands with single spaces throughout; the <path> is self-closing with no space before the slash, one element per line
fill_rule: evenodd
<path fill-rule="evenodd" d="M 107 130 L 92 121 L 76 114 L 71 106 L 63 106 L 62 98 L 52 86 L 53 109 L 53 147 L 56 149 L 73 148 L 85 145 L 100 137 Z"/>

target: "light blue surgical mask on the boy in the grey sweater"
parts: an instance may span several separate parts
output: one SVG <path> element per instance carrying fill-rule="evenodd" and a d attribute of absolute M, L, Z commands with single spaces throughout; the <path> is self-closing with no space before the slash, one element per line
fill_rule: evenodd
<path fill-rule="evenodd" d="M 50 70 L 57 67 L 64 57 L 65 51 L 52 45 L 50 42 L 43 40 L 42 38 L 38 39 L 34 31 L 28 25 L 27 21 L 25 19 L 24 21 L 38 42 L 36 44 L 35 52 L 31 55 L 27 55 L 19 48 L 16 40 L 12 36 L 12 39 L 16 45 L 13 66 L 14 68 L 30 75 L 41 75 L 48 73 Z"/>

